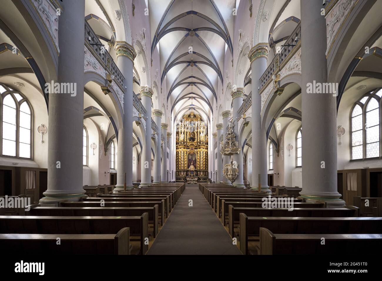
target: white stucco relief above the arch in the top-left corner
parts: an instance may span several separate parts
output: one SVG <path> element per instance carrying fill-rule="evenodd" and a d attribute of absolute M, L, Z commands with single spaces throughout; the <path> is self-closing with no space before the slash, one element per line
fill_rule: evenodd
<path fill-rule="evenodd" d="M 44 21 L 47 31 L 57 48 L 57 52 L 60 53 L 58 48 L 58 15 L 56 8 L 48 0 L 33 0 L 32 3 Z"/>

